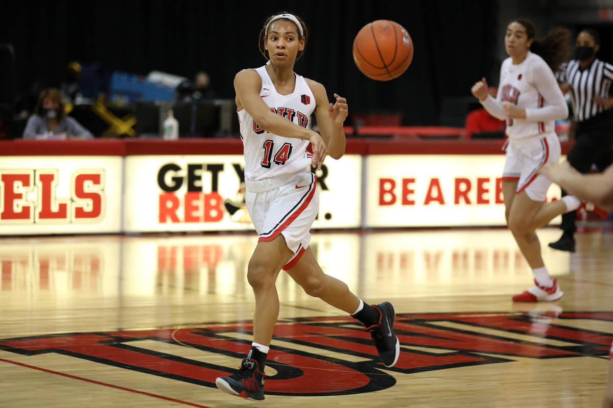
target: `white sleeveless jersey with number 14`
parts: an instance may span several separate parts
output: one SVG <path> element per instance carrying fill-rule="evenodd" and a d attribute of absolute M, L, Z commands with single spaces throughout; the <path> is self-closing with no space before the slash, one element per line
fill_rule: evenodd
<path fill-rule="evenodd" d="M 262 78 L 260 96 L 270 110 L 310 129 L 315 98 L 304 78 L 295 74 L 294 92 L 280 95 L 276 92 L 265 67 L 257 68 L 256 72 Z M 311 163 L 310 154 L 307 152 L 310 143 L 308 140 L 286 138 L 266 132 L 258 127 L 244 108 L 238 112 L 238 121 L 245 150 L 245 180 L 248 184 L 306 171 Z"/>

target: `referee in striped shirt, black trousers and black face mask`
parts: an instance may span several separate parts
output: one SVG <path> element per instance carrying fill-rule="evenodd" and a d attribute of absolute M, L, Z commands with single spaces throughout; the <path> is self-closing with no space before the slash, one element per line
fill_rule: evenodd
<path fill-rule="evenodd" d="M 563 65 L 556 78 L 562 92 L 570 91 L 574 119 L 577 122 L 576 142 L 568 153 L 571 166 L 587 173 L 596 165 L 603 172 L 613 163 L 613 98 L 609 91 L 613 83 L 613 65 L 596 58 L 600 36 L 592 29 L 577 35 L 576 59 Z M 562 191 L 562 195 L 566 195 Z M 574 232 L 577 211 L 562 215 L 564 231 L 550 247 L 561 251 L 575 251 Z"/>

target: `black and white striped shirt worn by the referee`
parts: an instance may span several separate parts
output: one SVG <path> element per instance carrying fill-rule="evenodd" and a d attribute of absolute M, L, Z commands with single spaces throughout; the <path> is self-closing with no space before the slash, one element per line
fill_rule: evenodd
<path fill-rule="evenodd" d="M 562 64 L 555 78 L 558 82 L 569 83 L 573 86 L 570 91 L 573 113 L 576 121 L 582 122 L 609 109 L 597 105 L 593 102 L 593 98 L 609 97 L 609 88 L 613 83 L 613 65 L 596 58 L 592 65 L 581 70 L 579 62 L 581 61 L 578 59 L 571 59 L 566 64 Z"/>

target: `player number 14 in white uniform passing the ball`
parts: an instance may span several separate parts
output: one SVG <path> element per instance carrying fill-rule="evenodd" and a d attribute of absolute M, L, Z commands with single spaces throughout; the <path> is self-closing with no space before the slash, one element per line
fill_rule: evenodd
<path fill-rule="evenodd" d="M 234 78 L 240 133 L 245 147 L 246 206 L 259 240 L 247 278 L 256 298 L 253 343 L 240 369 L 215 384 L 232 395 L 264 399 L 264 365 L 279 314 L 275 280 L 285 270 L 307 294 L 351 314 L 371 333 L 384 365 L 395 365 L 400 343 L 394 335 L 395 311 L 389 302 L 367 305 L 347 285 L 324 274 L 309 247 L 309 230 L 318 213 L 316 177 L 329 154 L 345 154 L 345 98 L 329 103 L 322 84 L 294 73 L 307 27 L 289 13 L 272 16 L 260 33 L 259 49 L 268 63 Z M 319 133 L 311 130 L 315 114 Z M 307 151 L 311 144 L 313 154 Z"/>

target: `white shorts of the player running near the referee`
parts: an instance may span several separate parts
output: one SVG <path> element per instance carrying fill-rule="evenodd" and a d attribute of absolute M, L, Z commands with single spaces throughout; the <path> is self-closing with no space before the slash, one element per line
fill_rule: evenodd
<path fill-rule="evenodd" d="M 560 154 L 560 140 L 553 132 L 511 140 L 506 148 L 502 179 L 517 180 L 517 194 L 526 191 L 531 200 L 546 201 L 551 180 L 536 171 L 547 163 L 558 163 Z"/>

